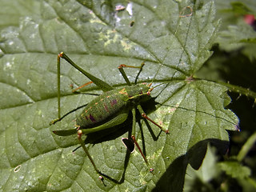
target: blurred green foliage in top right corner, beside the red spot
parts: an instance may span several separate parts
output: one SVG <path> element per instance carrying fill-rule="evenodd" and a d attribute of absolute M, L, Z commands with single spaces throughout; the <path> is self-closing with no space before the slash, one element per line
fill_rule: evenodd
<path fill-rule="evenodd" d="M 242 50 L 242 53 L 254 62 L 256 33 L 253 26 L 245 22 L 244 17 L 246 14 L 256 15 L 256 2 L 217 1 L 216 6 L 217 16 L 222 20 L 222 30 L 216 39 L 220 48 L 227 52 Z"/>

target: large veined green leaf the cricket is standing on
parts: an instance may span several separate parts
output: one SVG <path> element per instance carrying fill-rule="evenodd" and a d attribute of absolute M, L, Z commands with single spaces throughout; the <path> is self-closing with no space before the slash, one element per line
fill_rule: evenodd
<path fill-rule="evenodd" d="M 116 10 L 118 5 L 126 9 Z M 184 9 L 192 13 L 185 15 Z M 182 190 L 187 163 L 200 166 L 209 141 L 225 151 L 226 130 L 238 130 L 238 118 L 225 109 L 230 103 L 226 87 L 193 78 L 212 54 L 218 31 L 214 14 L 211 1 L 49 0 L 41 2 L 37 14 L 22 18 L 18 27 L 3 29 L 0 190 Z M 146 66 L 138 81 L 163 83 L 152 92 L 156 108 L 154 102 L 146 103 L 146 112 L 170 134 L 142 120 L 136 127 L 154 174 L 138 151 L 129 154 L 122 146 L 131 119 L 124 129 L 86 138 L 98 169 L 112 178 L 104 183 L 82 149 L 72 153 L 79 146 L 76 135 L 52 133 L 75 124 L 75 114 L 70 114 L 49 126 L 58 116 L 56 62 L 61 51 L 114 87 L 125 85 L 117 66 L 142 62 Z M 136 70 L 126 72 L 134 82 Z M 72 94 L 70 84 L 81 86 L 88 79 L 64 61 L 61 74 L 62 114 L 94 98 Z M 101 93 L 96 86 L 85 91 Z"/>

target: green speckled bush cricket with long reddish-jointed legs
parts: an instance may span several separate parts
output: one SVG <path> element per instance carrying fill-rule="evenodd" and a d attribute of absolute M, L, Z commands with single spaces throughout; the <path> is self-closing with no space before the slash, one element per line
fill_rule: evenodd
<path fill-rule="evenodd" d="M 83 150 L 86 152 L 86 155 L 90 159 L 90 162 L 94 166 L 94 170 L 99 174 L 100 178 L 102 178 L 102 172 L 98 170 L 93 158 L 91 158 L 90 153 L 85 146 L 85 142 L 82 141 L 82 134 L 90 134 L 100 130 L 109 129 L 113 126 L 118 126 L 122 124 L 122 122 L 126 121 L 126 119 L 128 118 L 128 114 L 131 111 L 133 115 L 131 138 L 123 139 L 123 143 L 126 145 L 126 143 L 128 142 L 129 145 L 132 144 L 133 146 L 137 146 L 140 154 L 142 154 L 142 158 L 146 162 L 146 165 L 150 168 L 150 165 L 145 155 L 142 153 L 142 150 L 135 138 L 136 109 L 138 109 L 139 113 L 142 115 L 142 118 L 146 118 L 148 121 L 154 123 L 155 126 L 158 126 L 166 134 L 168 134 L 168 130 L 164 130 L 162 126 L 159 126 L 156 122 L 147 117 L 144 110 L 142 110 L 142 106 L 140 105 L 141 102 L 146 102 L 151 98 L 150 92 L 154 89 L 154 87 L 150 87 L 152 85 L 152 82 L 150 84 L 140 83 L 132 86 L 126 76 L 125 71 L 123 70 L 124 67 L 132 67 L 138 68 L 141 71 L 144 64 L 142 63 L 141 66 L 118 66 L 118 70 L 122 74 L 122 77 L 125 79 L 127 86 L 114 89 L 106 82 L 103 82 L 101 79 L 96 78 L 94 77 L 94 75 L 86 72 L 86 70 L 83 70 L 63 52 L 61 54 L 58 54 L 58 118 L 50 122 L 51 125 L 58 121 L 61 121 L 62 118 L 66 116 L 64 115 L 61 117 L 60 107 L 61 58 L 64 58 L 66 62 L 69 62 L 70 65 L 74 66 L 74 68 L 79 70 L 82 74 L 86 75 L 87 78 L 90 78 L 90 80 L 94 82 L 94 84 L 98 86 L 104 93 L 99 95 L 97 98 L 94 98 L 85 106 L 85 108 L 82 110 L 82 113 L 76 119 L 76 128 L 70 130 L 54 130 L 54 134 L 57 134 L 59 136 L 78 134 L 79 143 L 81 144 Z M 87 82 L 85 85 L 88 85 L 92 82 Z M 81 87 L 78 87 L 78 89 Z M 102 113 L 102 111 L 104 111 L 104 113 Z M 153 168 L 150 168 L 150 171 L 153 171 Z"/>

